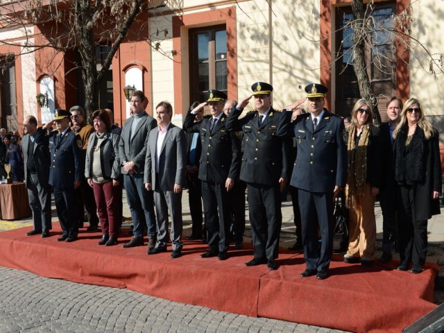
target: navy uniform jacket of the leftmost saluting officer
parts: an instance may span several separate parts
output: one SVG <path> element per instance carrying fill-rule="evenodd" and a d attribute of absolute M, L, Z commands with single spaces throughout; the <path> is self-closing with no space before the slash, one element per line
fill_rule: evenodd
<path fill-rule="evenodd" d="M 63 135 L 59 135 L 57 130 L 49 135 L 50 185 L 58 188 L 69 188 L 74 187 L 74 181 L 83 179 L 80 153 L 82 146 L 82 140 L 70 128 Z"/>

